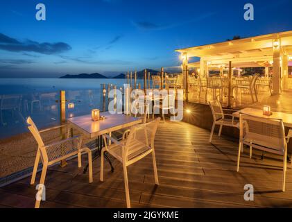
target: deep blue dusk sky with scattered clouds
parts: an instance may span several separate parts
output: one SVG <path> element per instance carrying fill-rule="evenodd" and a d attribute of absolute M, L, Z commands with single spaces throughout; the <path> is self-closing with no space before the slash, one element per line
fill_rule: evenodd
<path fill-rule="evenodd" d="M 243 19 L 246 3 L 254 21 Z M 0 0 L 0 78 L 175 67 L 175 49 L 291 31 L 291 8 L 291 0 Z"/>

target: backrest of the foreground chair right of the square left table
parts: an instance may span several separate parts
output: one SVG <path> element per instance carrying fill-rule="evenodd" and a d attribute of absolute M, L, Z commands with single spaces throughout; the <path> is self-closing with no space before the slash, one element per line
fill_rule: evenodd
<path fill-rule="evenodd" d="M 125 152 L 123 155 L 125 155 L 125 157 L 128 158 L 128 155 L 131 154 L 130 152 L 128 152 L 128 148 L 130 147 L 131 144 L 135 143 L 144 144 L 145 146 L 154 148 L 154 139 L 159 123 L 160 117 L 149 123 L 132 126 L 132 128 L 130 129 L 130 134 L 128 135 L 126 141 L 126 147 L 123 150 L 123 152 Z"/>

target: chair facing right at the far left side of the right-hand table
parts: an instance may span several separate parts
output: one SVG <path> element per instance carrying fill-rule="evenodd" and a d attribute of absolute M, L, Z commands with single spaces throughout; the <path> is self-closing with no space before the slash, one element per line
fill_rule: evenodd
<path fill-rule="evenodd" d="M 225 114 L 223 110 L 228 111 L 229 109 L 223 109 L 219 101 L 217 100 L 209 101 L 209 106 L 211 108 L 213 116 L 213 126 L 211 130 L 211 135 L 209 137 L 209 143 L 212 142 L 212 137 L 216 125 L 220 126 L 218 133 L 219 137 L 221 136 L 223 126 L 239 128 L 239 121 L 235 121 L 234 116 L 232 114 Z M 234 110 L 230 111 L 234 112 Z M 232 117 L 232 119 L 225 119 L 225 117 Z"/>

